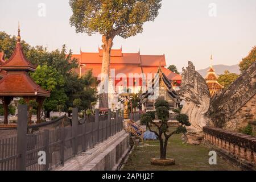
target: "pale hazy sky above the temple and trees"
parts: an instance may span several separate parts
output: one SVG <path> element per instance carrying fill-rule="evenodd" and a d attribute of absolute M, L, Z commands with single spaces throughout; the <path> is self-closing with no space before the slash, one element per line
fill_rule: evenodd
<path fill-rule="evenodd" d="M 76 34 L 69 25 L 72 14 L 68 0 L 1 0 L 0 31 L 16 35 L 20 22 L 22 39 L 31 46 L 52 49 L 63 44 L 73 53 L 96 52 L 101 36 Z M 39 3 L 46 5 L 46 16 L 39 16 Z M 216 4 L 216 17 L 209 16 L 210 3 Z M 213 11 L 211 11 L 213 12 Z M 213 64 L 238 64 L 256 45 L 255 0 L 163 0 L 154 22 L 144 24 L 135 37 L 114 39 L 113 48 L 142 55 L 166 55 L 167 65 L 179 71 L 192 61 L 196 69 Z"/>

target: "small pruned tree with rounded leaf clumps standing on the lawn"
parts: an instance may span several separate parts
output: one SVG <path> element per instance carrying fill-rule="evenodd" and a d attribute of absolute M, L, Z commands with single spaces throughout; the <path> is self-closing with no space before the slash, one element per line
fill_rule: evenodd
<path fill-rule="evenodd" d="M 187 133 L 187 129 L 185 126 L 190 126 L 191 123 L 189 123 L 188 117 L 185 117 L 185 114 L 179 114 L 177 116 L 177 119 L 178 119 L 177 121 L 179 121 L 180 126 L 178 126 L 175 130 L 171 130 L 167 124 L 168 118 L 169 118 L 169 109 L 170 109 L 168 106 L 168 102 L 164 100 L 156 101 L 155 109 L 156 109 L 156 115 L 160 119 L 159 124 L 153 122 L 154 116 L 152 116 L 152 113 L 143 114 L 141 117 L 141 122 L 146 123 L 148 129 L 151 132 L 155 133 L 156 136 L 158 136 L 159 143 L 160 143 L 160 159 L 166 160 L 168 139 L 173 134 Z M 151 125 L 154 125 L 158 131 L 153 130 Z"/>

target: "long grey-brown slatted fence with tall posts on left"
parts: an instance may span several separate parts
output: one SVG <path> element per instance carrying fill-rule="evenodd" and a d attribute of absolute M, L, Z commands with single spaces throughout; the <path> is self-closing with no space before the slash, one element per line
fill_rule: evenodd
<path fill-rule="evenodd" d="M 109 110 L 100 115 L 96 110 L 90 119 L 78 121 L 78 110 L 74 108 L 72 126 L 27 134 L 27 106 L 19 105 L 17 136 L 0 139 L 0 171 L 53 170 L 121 130 L 123 113 Z"/>

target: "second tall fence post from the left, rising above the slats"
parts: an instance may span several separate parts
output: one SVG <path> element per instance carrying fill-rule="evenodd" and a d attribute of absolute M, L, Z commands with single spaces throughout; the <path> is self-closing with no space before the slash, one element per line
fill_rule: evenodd
<path fill-rule="evenodd" d="M 78 108 L 72 109 L 72 137 L 73 137 L 73 155 L 77 155 L 77 125 L 78 125 Z"/>

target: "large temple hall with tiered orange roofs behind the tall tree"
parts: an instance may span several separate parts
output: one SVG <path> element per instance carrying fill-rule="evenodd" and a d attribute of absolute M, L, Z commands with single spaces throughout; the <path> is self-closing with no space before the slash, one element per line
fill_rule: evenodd
<path fill-rule="evenodd" d="M 100 80 L 102 65 L 102 49 L 98 52 L 82 52 L 72 55 L 79 61 L 76 72 L 84 75 L 92 70 L 93 76 Z M 147 85 L 158 74 L 159 65 L 166 79 L 171 82 L 172 88 L 179 89 L 181 76 L 166 67 L 164 55 L 141 55 L 137 53 L 124 53 L 122 48 L 112 49 L 110 57 L 110 86 L 109 108 L 118 108 L 118 95 L 120 93 L 140 93 L 143 85 Z M 111 86 L 112 85 L 112 86 Z"/>

